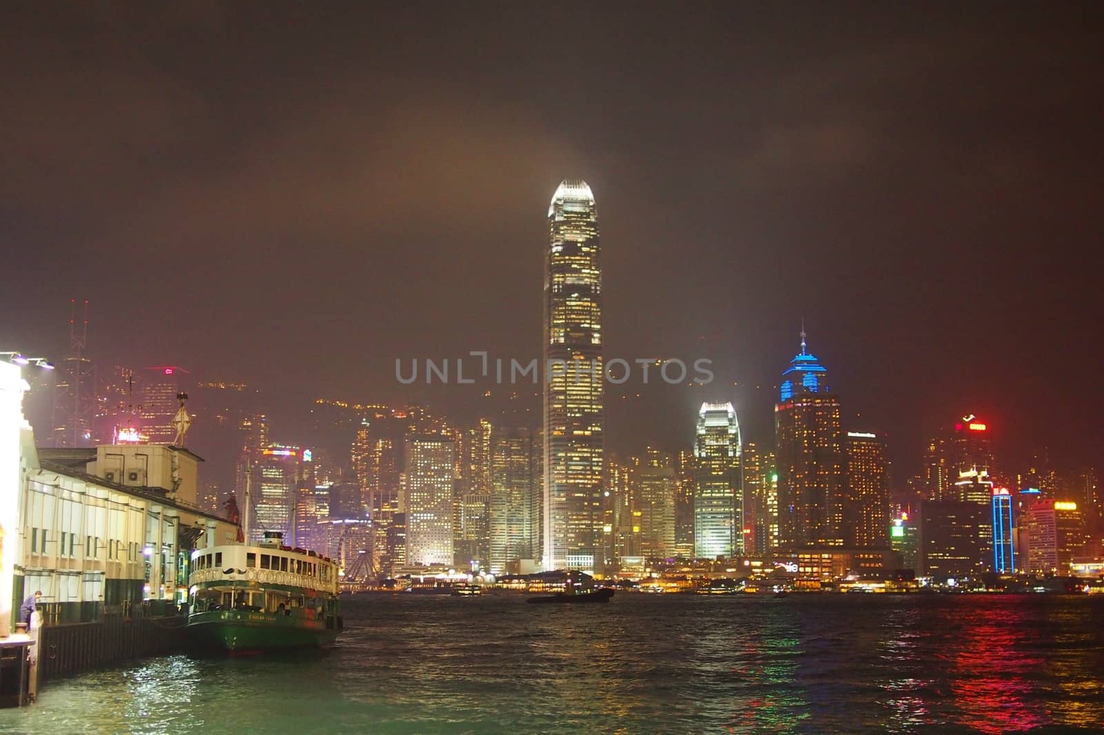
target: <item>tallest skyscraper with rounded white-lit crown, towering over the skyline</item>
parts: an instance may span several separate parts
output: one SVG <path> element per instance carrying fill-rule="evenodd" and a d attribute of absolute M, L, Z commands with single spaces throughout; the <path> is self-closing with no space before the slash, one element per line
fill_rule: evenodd
<path fill-rule="evenodd" d="M 591 188 L 564 181 L 549 205 L 544 259 L 545 569 L 599 571 L 602 269 Z"/>

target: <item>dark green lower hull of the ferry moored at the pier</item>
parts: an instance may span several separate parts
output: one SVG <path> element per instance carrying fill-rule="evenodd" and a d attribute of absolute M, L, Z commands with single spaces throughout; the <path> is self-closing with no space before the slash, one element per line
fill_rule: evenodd
<path fill-rule="evenodd" d="M 187 630 L 188 641 L 193 649 L 230 654 L 329 648 L 340 632 L 340 629 L 327 628 L 323 620 L 244 610 L 193 615 Z"/>

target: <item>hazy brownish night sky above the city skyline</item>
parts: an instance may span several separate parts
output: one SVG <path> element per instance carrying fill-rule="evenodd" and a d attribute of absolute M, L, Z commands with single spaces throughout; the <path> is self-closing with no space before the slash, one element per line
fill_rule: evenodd
<path fill-rule="evenodd" d="M 104 362 L 471 419 L 505 393 L 394 360 L 539 355 L 582 178 L 607 358 L 718 374 L 612 388 L 614 449 L 704 400 L 773 444 L 804 318 L 909 471 L 966 411 L 1104 464 L 1098 4 L 400 4 L 4 3 L 0 349 L 88 298 Z"/>

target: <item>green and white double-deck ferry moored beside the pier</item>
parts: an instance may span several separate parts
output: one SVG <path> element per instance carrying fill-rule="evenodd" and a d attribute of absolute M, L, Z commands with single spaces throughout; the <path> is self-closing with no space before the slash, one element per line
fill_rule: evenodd
<path fill-rule="evenodd" d="M 265 533 L 257 545 L 192 552 L 188 639 L 234 656 L 328 648 L 342 629 L 338 565 Z"/>

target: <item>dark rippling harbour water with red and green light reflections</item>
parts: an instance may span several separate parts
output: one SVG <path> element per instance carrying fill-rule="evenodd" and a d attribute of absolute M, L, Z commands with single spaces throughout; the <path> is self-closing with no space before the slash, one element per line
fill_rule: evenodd
<path fill-rule="evenodd" d="M 1104 729 L 1104 599 L 358 595 L 325 654 L 174 656 L 49 683 L 0 732 Z"/>

